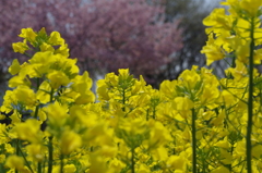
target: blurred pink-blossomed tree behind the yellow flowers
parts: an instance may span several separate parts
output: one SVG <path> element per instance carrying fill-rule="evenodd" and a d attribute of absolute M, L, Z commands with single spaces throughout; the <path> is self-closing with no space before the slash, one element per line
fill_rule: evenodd
<path fill-rule="evenodd" d="M 129 67 L 136 76 L 154 76 L 182 48 L 178 22 L 165 22 L 165 8 L 146 0 L 0 0 L 0 4 L 2 65 L 19 57 L 11 44 L 22 27 L 60 32 L 71 57 L 91 73 Z"/>

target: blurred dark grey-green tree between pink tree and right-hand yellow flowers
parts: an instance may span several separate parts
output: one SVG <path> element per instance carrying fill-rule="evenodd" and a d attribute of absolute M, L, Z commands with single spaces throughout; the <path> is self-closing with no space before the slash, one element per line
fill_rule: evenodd
<path fill-rule="evenodd" d="M 176 59 L 166 64 L 158 75 L 153 76 L 155 81 L 175 79 L 186 69 L 192 65 L 204 66 L 205 57 L 200 50 L 205 45 L 205 26 L 202 24 L 204 17 L 219 5 L 217 0 L 162 0 L 165 7 L 166 22 L 179 21 L 182 28 L 183 47 L 176 52 Z M 219 64 L 214 64 L 219 67 Z"/>

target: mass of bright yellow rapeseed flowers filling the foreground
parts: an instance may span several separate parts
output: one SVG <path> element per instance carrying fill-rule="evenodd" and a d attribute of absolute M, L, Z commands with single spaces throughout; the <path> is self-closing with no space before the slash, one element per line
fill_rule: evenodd
<path fill-rule="evenodd" d="M 0 172 L 262 172 L 262 1 L 227 0 L 203 23 L 207 65 L 225 60 L 226 77 L 193 66 L 159 89 L 128 69 L 108 73 L 92 92 L 88 73 L 58 32 L 23 28 L 13 77 L 1 106 Z M 34 53 L 32 53 L 34 52 Z"/>

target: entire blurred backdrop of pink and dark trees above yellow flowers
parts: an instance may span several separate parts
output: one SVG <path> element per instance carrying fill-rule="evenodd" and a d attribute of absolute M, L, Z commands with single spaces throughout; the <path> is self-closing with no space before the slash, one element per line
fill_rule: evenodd
<path fill-rule="evenodd" d="M 8 66 L 16 58 L 26 61 L 12 50 L 12 42 L 22 41 L 21 28 L 59 32 L 93 79 L 129 67 L 157 88 L 205 65 L 202 20 L 217 7 L 218 0 L 0 0 L 0 103 Z"/>

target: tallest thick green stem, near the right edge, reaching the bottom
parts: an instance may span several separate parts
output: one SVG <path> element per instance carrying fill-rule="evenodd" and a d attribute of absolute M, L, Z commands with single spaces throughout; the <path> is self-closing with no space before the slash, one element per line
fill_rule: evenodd
<path fill-rule="evenodd" d="M 254 50 L 254 18 L 251 18 L 251 28 L 250 28 L 250 54 L 249 54 L 249 100 L 248 100 L 248 126 L 247 126 L 247 171 L 252 173 L 252 144 L 251 144 L 251 134 L 252 134 L 252 116 L 253 116 L 253 50 Z"/>

